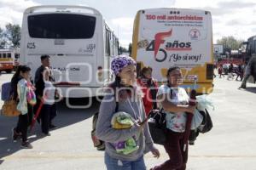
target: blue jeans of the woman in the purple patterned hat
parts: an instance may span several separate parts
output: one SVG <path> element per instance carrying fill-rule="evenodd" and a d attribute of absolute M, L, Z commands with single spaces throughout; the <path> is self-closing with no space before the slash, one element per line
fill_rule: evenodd
<path fill-rule="evenodd" d="M 146 170 L 143 156 L 136 161 L 121 161 L 108 156 L 105 152 L 105 164 L 108 170 Z"/>

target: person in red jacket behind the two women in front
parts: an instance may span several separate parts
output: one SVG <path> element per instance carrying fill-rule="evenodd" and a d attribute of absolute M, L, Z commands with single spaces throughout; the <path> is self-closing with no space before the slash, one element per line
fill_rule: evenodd
<path fill-rule="evenodd" d="M 152 78 L 152 68 L 149 66 L 143 67 L 141 77 L 138 78 L 137 82 L 143 90 L 143 105 L 145 107 L 146 115 L 148 116 L 150 110 L 157 109 L 156 94 L 158 84 Z"/>

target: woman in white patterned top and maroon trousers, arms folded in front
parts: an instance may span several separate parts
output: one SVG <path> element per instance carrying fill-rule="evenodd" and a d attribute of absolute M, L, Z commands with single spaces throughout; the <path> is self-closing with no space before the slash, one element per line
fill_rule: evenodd
<path fill-rule="evenodd" d="M 184 88 L 179 87 L 183 82 L 179 67 L 170 67 L 167 71 L 167 84 L 160 86 L 157 99 L 160 108 L 166 113 L 166 144 L 165 150 L 169 160 L 150 170 L 184 170 L 188 161 L 188 144 L 183 151 L 185 125 L 187 116 L 185 112 L 194 113 L 195 106 L 189 104 L 189 95 Z M 187 142 L 188 143 L 188 142 Z"/>

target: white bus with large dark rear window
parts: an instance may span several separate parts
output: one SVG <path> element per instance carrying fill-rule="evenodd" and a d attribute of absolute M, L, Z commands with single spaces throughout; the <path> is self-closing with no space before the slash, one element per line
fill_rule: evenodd
<path fill-rule="evenodd" d="M 118 54 L 119 39 L 95 8 L 35 6 L 23 14 L 20 63 L 32 69 L 48 54 L 55 86 L 66 98 L 101 95 L 112 80 L 110 61 Z"/>

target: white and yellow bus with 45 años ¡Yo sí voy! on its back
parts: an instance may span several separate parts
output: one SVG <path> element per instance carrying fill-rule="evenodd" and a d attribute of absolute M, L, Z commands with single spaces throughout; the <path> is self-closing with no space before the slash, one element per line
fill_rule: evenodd
<path fill-rule="evenodd" d="M 137 12 L 131 49 L 131 56 L 137 60 L 137 75 L 143 66 L 150 66 L 153 77 L 166 82 L 166 71 L 177 65 L 182 69 L 183 88 L 210 94 L 212 48 L 212 16 L 208 11 L 149 8 Z"/>

